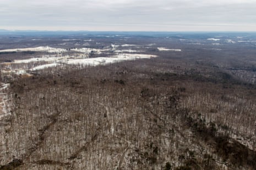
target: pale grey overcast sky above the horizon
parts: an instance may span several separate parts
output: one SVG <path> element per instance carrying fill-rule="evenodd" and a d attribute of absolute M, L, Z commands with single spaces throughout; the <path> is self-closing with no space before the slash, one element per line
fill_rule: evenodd
<path fill-rule="evenodd" d="M 256 31 L 256 0 L 0 0 L 0 29 Z"/>

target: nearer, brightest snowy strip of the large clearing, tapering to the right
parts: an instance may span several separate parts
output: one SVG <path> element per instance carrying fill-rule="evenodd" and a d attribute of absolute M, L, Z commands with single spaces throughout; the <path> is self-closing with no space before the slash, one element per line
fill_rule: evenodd
<path fill-rule="evenodd" d="M 124 52 L 124 51 L 126 50 L 120 50 L 119 52 Z M 137 51 L 128 50 L 128 52 L 137 52 Z M 65 64 L 97 66 L 97 65 L 117 63 L 117 62 L 126 61 L 126 60 L 150 59 L 155 57 L 157 57 L 157 55 L 136 54 L 136 53 L 135 54 L 134 53 L 117 53 L 116 55 L 111 55 L 108 57 L 97 57 L 97 58 L 88 58 L 87 55 L 83 56 L 83 54 L 78 56 L 45 55 L 45 56 L 42 56 L 42 58 L 14 60 L 11 63 L 3 63 L 3 64 L 6 64 L 6 69 L 3 69 L 2 73 L 7 73 L 7 74 L 15 73 L 17 75 L 23 75 L 28 73 L 28 71 L 42 70 L 42 69 L 47 69 L 49 67 L 56 67 L 56 66 L 65 65 Z M 12 68 L 11 64 L 24 64 L 24 65 L 21 65 L 18 68 L 16 66 L 14 69 Z"/>

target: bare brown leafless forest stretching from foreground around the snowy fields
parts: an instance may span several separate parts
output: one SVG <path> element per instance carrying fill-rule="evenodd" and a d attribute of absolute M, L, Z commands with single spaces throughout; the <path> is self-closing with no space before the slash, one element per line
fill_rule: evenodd
<path fill-rule="evenodd" d="M 256 169 L 256 47 L 201 36 L 88 37 L 159 57 L 2 74 L 0 169 Z"/>

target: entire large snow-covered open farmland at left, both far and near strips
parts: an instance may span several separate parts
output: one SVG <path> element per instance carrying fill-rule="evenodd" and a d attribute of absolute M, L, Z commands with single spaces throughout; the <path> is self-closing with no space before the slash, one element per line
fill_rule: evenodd
<path fill-rule="evenodd" d="M 123 45 L 121 45 L 122 47 Z M 133 46 L 132 44 L 124 44 L 125 47 Z M 113 49 L 114 47 L 114 49 Z M 17 75 L 27 74 L 29 71 L 43 70 L 49 67 L 56 67 L 61 65 L 83 65 L 83 66 L 97 66 L 106 65 L 111 63 L 117 63 L 126 60 L 135 59 L 150 59 L 157 57 L 156 55 L 150 54 L 138 54 L 138 52 L 143 52 L 140 50 L 133 49 L 94 49 L 94 48 L 72 48 L 72 49 L 62 49 L 62 48 L 52 48 L 52 47 L 35 47 L 35 48 L 19 48 L 19 49 L 4 49 L 0 52 L 48 52 L 48 53 L 58 53 L 41 55 L 41 57 L 14 60 L 10 63 L 2 63 L 4 66 L 2 73 L 15 73 Z M 74 54 L 67 55 L 63 52 L 74 52 Z M 95 54 L 105 53 L 109 56 L 88 58 L 89 53 L 94 52 Z M 112 55 L 111 55 L 112 54 Z M 15 66 L 13 66 L 15 65 Z"/>

